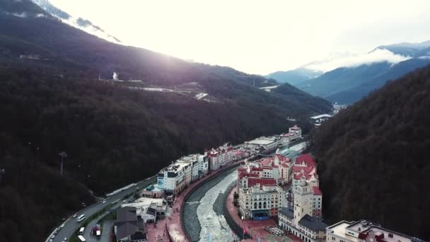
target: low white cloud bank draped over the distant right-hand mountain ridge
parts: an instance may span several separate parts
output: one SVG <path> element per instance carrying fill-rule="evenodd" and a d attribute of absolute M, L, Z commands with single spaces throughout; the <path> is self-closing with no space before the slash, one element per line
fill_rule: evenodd
<path fill-rule="evenodd" d="M 389 50 L 376 49 L 366 54 L 335 54 L 335 57 L 330 57 L 319 62 L 311 62 L 304 65 L 302 68 L 332 71 L 339 67 L 358 67 L 361 64 L 371 64 L 374 62 L 389 62 L 396 64 L 411 58 L 412 57 L 405 57 L 401 54 L 395 54 Z"/>

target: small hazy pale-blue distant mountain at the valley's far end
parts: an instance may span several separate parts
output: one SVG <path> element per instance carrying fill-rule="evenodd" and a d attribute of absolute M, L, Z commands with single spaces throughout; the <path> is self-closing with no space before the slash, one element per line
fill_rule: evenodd
<path fill-rule="evenodd" d="M 322 71 L 298 68 L 291 71 L 276 71 L 265 77 L 275 79 L 279 83 L 290 83 L 291 85 L 296 86 L 298 83 L 303 81 L 317 78 L 322 73 Z"/>

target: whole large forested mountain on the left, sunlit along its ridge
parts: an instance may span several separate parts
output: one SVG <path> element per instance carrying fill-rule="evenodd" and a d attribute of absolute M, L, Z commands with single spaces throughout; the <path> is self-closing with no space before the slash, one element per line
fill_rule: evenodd
<path fill-rule="evenodd" d="M 308 132 L 310 115 L 332 109 L 289 84 L 262 91 L 272 81 L 263 76 L 108 42 L 32 1 L 0 0 L 0 23 L 5 241 L 42 241 L 94 200 L 88 189 L 103 195 L 182 155 L 285 132 L 293 125 L 286 117 Z M 141 91 L 147 87 L 171 91 Z M 197 100 L 199 93 L 211 99 Z"/>

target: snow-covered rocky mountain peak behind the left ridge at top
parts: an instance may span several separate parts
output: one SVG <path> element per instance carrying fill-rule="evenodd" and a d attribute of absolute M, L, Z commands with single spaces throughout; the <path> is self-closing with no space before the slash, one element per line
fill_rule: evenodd
<path fill-rule="evenodd" d="M 121 43 L 121 40 L 118 40 L 117 38 L 115 38 L 115 36 L 105 33 L 105 30 L 103 30 L 97 25 L 93 25 L 91 21 L 80 17 L 76 18 L 74 16 L 71 16 L 69 13 L 66 13 L 61 9 L 57 8 L 56 6 L 52 5 L 48 0 L 32 1 L 38 6 L 40 6 L 42 9 L 44 9 L 47 13 L 50 13 L 51 16 L 59 18 L 59 20 L 63 21 L 64 23 L 67 23 L 75 28 L 84 30 L 91 35 L 95 35 L 105 40 L 109 40 L 110 42 Z"/>

